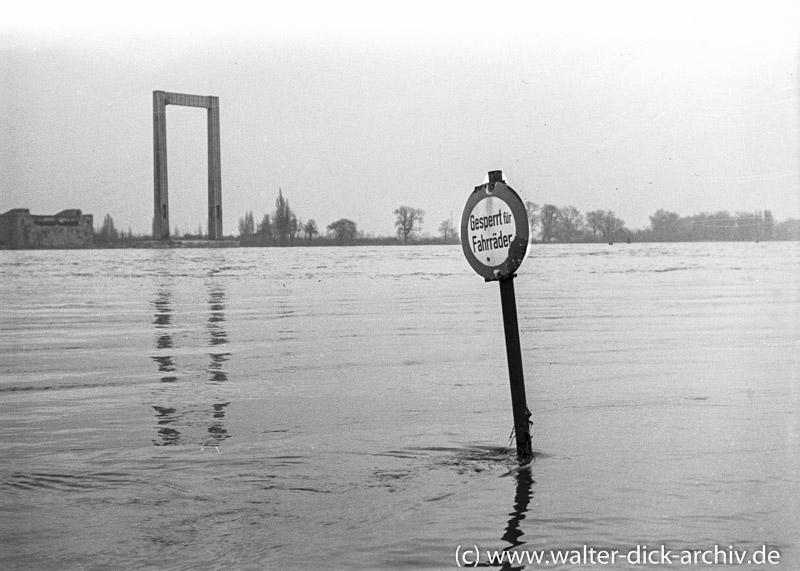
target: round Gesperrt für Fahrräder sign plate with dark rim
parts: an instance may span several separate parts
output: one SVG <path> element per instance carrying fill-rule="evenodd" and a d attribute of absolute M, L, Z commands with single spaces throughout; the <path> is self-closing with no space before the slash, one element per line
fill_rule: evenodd
<path fill-rule="evenodd" d="M 477 187 L 461 216 L 461 247 L 486 281 L 514 275 L 528 250 L 528 212 L 504 182 Z"/>

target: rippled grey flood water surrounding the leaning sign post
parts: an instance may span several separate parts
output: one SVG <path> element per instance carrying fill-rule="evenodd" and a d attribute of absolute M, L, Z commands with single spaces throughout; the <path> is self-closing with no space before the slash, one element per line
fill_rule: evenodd
<path fill-rule="evenodd" d="M 531 246 L 515 287 L 522 470 L 458 246 L 1 251 L 0 568 L 800 568 L 800 244 Z"/>

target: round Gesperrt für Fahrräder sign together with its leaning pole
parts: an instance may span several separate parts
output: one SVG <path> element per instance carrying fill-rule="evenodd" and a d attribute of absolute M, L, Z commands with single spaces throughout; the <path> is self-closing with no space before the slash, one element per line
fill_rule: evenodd
<path fill-rule="evenodd" d="M 533 457 L 531 413 L 525 398 L 514 272 L 528 251 L 528 236 L 525 204 L 514 189 L 505 183 L 501 171 L 490 171 L 489 182 L 475 187 L 467 198 L 461 215 L 461 247 L 467 262 L 479 275 L 487 282 L 500 282 L 514 434 L 517 456 L 524 462 Z"/>

